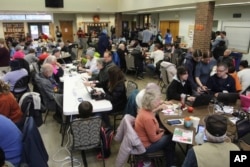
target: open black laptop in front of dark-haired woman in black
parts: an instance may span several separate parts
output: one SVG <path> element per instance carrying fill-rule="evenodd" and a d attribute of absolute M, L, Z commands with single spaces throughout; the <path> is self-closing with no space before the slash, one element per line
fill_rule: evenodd
<path fill-rule="evenodd" d="M 212 99 L 211 95 L 202 94 L 200 96 L 195 97 L 194 101 L 187 100 L 186 104 L 192 107 L 207 106 L 211 99 Z"/>

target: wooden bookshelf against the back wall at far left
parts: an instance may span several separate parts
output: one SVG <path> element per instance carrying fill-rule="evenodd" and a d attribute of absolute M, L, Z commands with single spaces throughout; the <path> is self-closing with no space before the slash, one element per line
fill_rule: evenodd
<path fill-rule="evenodd" d="M 13 38 L 24 37 L 24 23 L 3 23 L 4 38 L 11 36 Z"/>

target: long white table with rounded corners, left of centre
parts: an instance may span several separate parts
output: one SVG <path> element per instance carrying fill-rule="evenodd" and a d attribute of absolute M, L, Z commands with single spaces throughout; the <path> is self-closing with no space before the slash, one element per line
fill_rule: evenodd
<path fill-rule="evenodd" d="M 105 112 L 112 110 L 112 104 L 108 100 L 91 99 L 80 74 L 64 76 L 63 89 L 63 114 L 78 114 L 79 98 L 89 101 L 93 105 L 93 112 Z"/>

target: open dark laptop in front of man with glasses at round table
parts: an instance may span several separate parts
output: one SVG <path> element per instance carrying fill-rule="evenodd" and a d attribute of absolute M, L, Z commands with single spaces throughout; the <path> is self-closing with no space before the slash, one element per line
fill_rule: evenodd
<path fill-rule="evenodd" d="M 219 93 L 217 96 L 217 101 L 224 105 L 235 104 L 238 99 L 239 93 Z"/>

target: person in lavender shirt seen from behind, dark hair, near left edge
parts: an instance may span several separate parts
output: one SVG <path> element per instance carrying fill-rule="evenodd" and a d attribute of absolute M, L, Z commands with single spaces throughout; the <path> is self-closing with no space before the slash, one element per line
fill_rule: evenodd
<path fill-rule="evenodd" d="M 19 60 L 10 62 L 11 71 L 3 76 L 3 80 L 10 85 L 10 91 L 13 91 L 16 82 L 22 77 L 28 76 L 28 71 L 22 68 Z M 21 91 L 21 90 L 20 90 Z"/>

